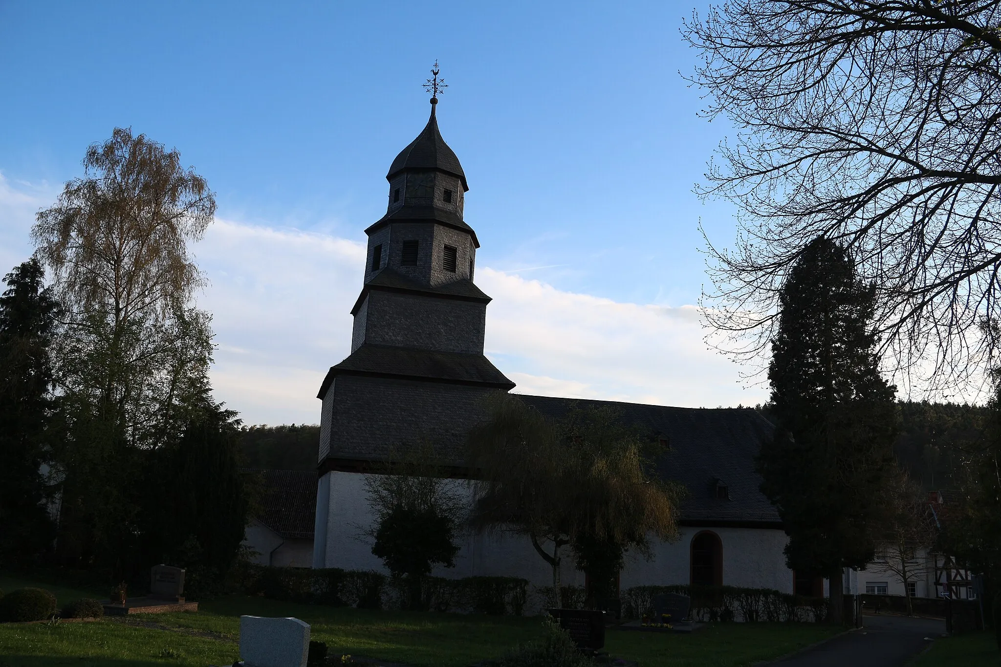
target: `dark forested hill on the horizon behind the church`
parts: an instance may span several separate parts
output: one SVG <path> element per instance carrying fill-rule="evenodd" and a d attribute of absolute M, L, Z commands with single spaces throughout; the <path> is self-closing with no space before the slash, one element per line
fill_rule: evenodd
<path fill-rule="evenodd" d="M 770 417 L 769 406 L 757 410 Z M 900 403 L 897 458 L 928 490 L 959 486 L 963 451 L 980 436 L 985 408 L 955 403 Z M 269 470 L 315 470 L 319 426 L 248 426 L 240 431 L 243 466 Z"/>

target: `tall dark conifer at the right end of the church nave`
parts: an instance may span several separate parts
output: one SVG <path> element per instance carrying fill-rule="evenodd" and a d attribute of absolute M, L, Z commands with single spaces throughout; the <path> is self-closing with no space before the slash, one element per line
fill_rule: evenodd
<path fill-rule="evenodd" d="M 869 328 L 875 294 L 845 249 L 812 241 L 783 287 L 768 371 L 776 433 L 758 460 L 762 491 L 789 535 L 789 567 L 831 580 L 836 622 L 842 568 L 874 556 L 898 432 Z"/>

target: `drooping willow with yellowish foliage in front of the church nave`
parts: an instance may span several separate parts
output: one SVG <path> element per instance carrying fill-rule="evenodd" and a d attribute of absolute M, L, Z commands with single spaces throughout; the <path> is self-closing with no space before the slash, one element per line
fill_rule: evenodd
<path fill-rule="evenodd" d="M 626 549 L 649 556 L 651 535 L 677 536 L 681 491 L 657 475 L 647 453 L 643 437 L 611 410 L 572 409 L 555 420 L 517 396 L 497 397 L 469 436 L 472 523 L 527 535 L 553 568 L 556 596 L 561 550 L 571 545 L 593 592 L 606 597 Z"/>

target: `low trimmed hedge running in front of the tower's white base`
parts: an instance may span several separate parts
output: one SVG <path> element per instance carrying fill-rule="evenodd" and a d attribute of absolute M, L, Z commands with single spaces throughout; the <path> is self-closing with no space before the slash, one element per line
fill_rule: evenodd
<path fill-rule="evenodd" d="M 265 567 L 244 564 L 236 587 L 247 595 L 309 604 L 360 609 L 399 609 L 406 599 L 403 582 L 379 572 Z M 428 609 L 521 616 L 529 582 L 516 577 L 425 577 L 422 597 Z"/>

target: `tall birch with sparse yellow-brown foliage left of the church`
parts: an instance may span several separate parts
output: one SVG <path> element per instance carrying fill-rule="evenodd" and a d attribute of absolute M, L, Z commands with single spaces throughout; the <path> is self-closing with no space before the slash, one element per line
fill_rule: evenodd
<path fill-rule="evenodd" d="M 202 391 L 210 362 L 188 244 L 204 234 L 215 200 L 176 150 L 130 129 L 90 146 L 83 166 L 32 230 L 66 312 L 59 549 L 121 570 L 138 530 L 142 452 L 182 430 L 179 406 Z"/>

